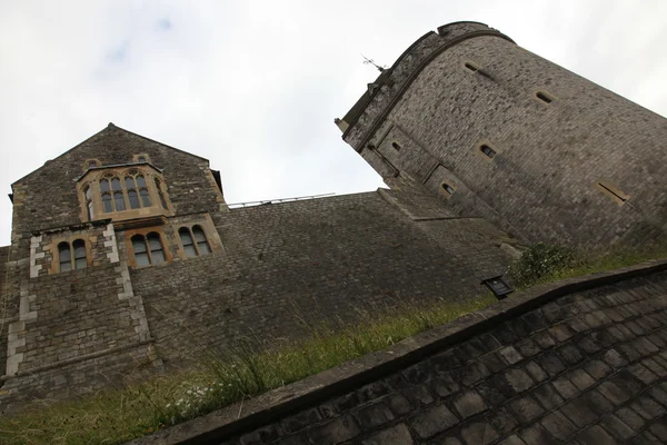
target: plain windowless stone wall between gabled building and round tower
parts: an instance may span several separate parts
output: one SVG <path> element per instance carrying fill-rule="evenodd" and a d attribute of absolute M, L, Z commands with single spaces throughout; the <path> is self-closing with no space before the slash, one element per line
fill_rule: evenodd
<path fill-rule="evenodd" d="M 221 254 L 131 269 L 165 363 L 243 336 L 295 339 L 307 324 L 352 323 L 358 310 L 474 297 L 509 264 L 499 246 L 511 240 L 486 221 L 444 217 L 424 196 L 400 199 L 428 220 L 379 192 L 233 209 L 218 226 Z"/>

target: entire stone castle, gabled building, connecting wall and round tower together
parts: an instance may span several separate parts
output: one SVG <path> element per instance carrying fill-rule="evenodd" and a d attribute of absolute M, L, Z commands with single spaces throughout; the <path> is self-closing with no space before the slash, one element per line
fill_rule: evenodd
<path fill-rule="evenodd" d="M 425 34 L 338 125 L 390 189 L 229 208 L 208 160 L 111 123 L 16 181 L 0 409 L 469 298 L 516 239 L 664 233 L 665 119 L 480 23 Z"/>

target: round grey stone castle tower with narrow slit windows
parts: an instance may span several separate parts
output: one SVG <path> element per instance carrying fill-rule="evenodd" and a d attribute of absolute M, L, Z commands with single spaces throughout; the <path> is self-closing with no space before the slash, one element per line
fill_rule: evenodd
<path fill-rule="evenodd" d="M 528 241 L 667 228 L 667 119 L 477 22 L 412 43 L 337 125 L 390 188 Z"/>

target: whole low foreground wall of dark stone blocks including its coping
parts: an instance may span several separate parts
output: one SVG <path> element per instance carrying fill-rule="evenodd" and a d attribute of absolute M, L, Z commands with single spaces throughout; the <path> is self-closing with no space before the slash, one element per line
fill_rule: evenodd
<path fill-rule="evenodd" d="M 510 296 L 135 443 L 665 443 L 665 269 L 628 268 Z"/>

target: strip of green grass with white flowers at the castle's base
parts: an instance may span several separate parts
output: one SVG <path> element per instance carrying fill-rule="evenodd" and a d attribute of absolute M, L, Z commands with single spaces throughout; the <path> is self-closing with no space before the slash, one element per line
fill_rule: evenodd
<path fill-rule="evenodd" d="M 461 304 L 407 305 L 378 317 L 366 315 L 342 332 L 319 326 L 309 338 L 277 350 L 261 350 L 249 338 L 225 354 L 202 349 L 207 366 L 200 369 L 79 399 L 32 404 L 2 417 L 0 443 L 120 444 L 384 349 L 494 301 L 488 295 Z"/>

